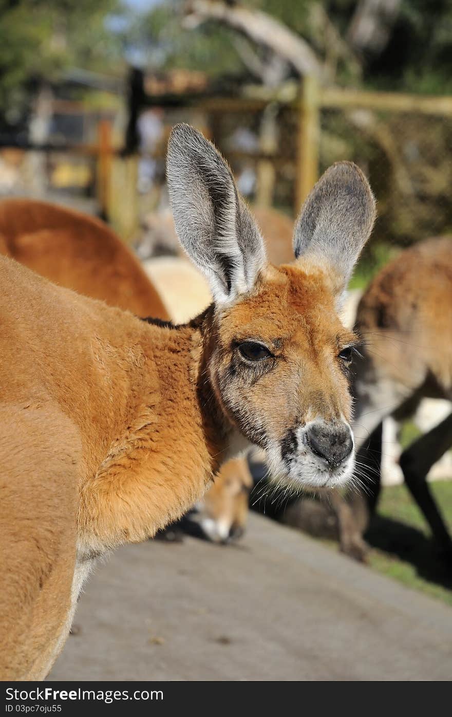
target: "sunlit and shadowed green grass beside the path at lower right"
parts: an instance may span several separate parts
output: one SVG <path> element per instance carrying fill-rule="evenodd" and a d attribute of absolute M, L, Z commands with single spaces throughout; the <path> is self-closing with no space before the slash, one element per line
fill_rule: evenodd
<path fill-rule="evenodd" d="M 452 529 L 452 482 L 430 483 Z M 430 529 L 405 485 L 383 488 L 378 513 L 366 536 L 369 566 L 408 587 L 452 605 L 452 569 L 438 554 Z"/>

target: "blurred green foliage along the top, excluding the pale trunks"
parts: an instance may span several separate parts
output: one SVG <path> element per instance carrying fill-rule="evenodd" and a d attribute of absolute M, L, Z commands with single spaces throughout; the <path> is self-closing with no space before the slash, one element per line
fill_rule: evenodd
<path fill-rule="evenodd" d="M 244 1 L 244 0 L 242 0 Z M 64 67 L 110 70 L 121 55 L 153 67 L 186 67 L 212 77 L 240 75 L 245 67 L 236 50 L 236 33 L 216 22 L 183 27 L 183 0 L 165 0 L 138 13 L 121 0 L 0 0 L 0 108 L 8 113 L 33 77 L 53 80 Z M 276 17 L 328 60 L 331 34 L 347 42 L 356 0 L 247 0 L 250 9 Z M 127 19 L 122 32 L 105 24 L 109 14 Z M 262 47 L 251 46 L 256 54 Z M 377 58 L 361 58 L 367 87 L 410 92 L 452 92 L 452 3 L 400 0 L 388 47 Z M 336 80 L 357 82 L 347 60 Z"/>

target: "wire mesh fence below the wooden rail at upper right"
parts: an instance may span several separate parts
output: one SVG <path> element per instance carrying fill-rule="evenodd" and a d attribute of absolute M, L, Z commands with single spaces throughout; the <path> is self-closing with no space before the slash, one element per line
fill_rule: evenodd
<path fill-rule="evenodd" d="M 349 159 L 365 171 L 378 199 L 374 242 L 451 232 L 451 117 L 328 108 L 321 118 L 319 169 Z"/>

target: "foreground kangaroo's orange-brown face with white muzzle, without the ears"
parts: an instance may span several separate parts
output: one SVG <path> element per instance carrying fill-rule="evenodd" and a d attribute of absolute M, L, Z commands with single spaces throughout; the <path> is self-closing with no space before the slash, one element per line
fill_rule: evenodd
<path fill-rule="evenodd" d="M 316 486 L 351 477 L 355 343 L 328 278 L 301 265 L 266 267 L 253 295 L 218 317 L 213 385 L 241 432 L 266 450 L 274 475 Z"/>

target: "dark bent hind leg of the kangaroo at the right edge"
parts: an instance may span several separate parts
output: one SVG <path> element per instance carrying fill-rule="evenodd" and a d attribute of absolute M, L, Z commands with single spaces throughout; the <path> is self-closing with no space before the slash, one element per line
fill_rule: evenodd
<path fill-rule="evenodd" d="M 426 480 L 433 463 L 451 447 L 452 413 L 403 452 L 400 456 L 400 467 L 408 490 L 423 512 L 433 536 L 452 557 L 451 536 Z"/>

